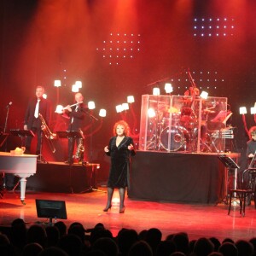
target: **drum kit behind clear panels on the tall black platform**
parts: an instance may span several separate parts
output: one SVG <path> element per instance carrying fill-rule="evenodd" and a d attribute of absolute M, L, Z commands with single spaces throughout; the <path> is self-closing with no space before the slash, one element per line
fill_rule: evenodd
<path fill-rule="evenodd" d="M 177 111 L 172 107 L 168 117 L 161 113 L 156 123 L 156 132 L 147 144 L 148 150 L 197 151 L 199 120 L 192 108 L 182 107 Z M 200 134 L 200 151 L 217 152 L 211 134 L 207 133 L 207 120 L 201 122 Z"/>

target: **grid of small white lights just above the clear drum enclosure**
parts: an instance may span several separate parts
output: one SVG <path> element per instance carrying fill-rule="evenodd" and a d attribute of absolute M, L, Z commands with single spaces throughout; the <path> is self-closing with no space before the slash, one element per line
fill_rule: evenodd
<path fill-rule="evenodd" d="M 193 74 L 192 78 L 195 81 L 196 87 L 200 90 L 218 90 L 222 87 L 225 79 L 220 77 L 218 71 L 190 71 Z M 186 72 L 182 78 L 170 79 L 174 90 L 178 95 L 183 95 L 185 90 L 191 86 Z"/>

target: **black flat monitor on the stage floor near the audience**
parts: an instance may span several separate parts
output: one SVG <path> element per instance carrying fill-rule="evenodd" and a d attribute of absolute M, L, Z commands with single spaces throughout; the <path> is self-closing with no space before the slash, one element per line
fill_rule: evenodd
<path fill-rule="evenodd" d="M 36 207 L 38 218 L 49 218 L 50 224 L 53 218 L 67 219 L 65 201 L 36 199 Z"/>

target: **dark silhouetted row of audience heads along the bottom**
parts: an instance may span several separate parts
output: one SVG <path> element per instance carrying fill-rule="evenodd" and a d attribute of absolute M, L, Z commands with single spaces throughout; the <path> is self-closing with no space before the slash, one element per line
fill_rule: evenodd
<path fill-rule="evenodd" d="M 74 222 L 67 225 L 31 224 L 16 218 L 10 230 L 0 232 L 1 256 L 256 256 L 256 237 L 233 241 L 229 237 L 201 237 L 189 241 L 185 232 L 162 237 L 157 228 L 137 233 L 121 229 L 116 237 L 102 223 L 92 229 Z"/>

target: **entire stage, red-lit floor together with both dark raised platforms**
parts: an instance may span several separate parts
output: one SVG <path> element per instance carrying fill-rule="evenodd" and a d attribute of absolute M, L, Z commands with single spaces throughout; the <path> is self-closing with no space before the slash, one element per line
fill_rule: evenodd
<path fill-rule="evenodd" d="M 25 205 L 20 203 L 19 187 L 0 200 L 0 229 L 8 230 L 15 218 L 23 218 L 27 226 L 49 221 L 37 216 L 35 200 L 41 199 L 66 202 L 67 219 L 63 221 L 67 226 L 79 221 L 90 229 L 101 222 L 113 236 L 122 228 L 140 232 L 153 227 L 160 229 L 162 239 L 182 231 L 188 232 L 190 240 L 215 236 L 236 241 L 256 235 L 253 202 L 246 207 L 244 218 L 236 202 L 228 215 L 223 200 L 227 172 L 218 155 L 137 152 L 132 160 L 124 214 L 119 214 L 117 190 L 111 210 L 102 212 L 107 189 L 96 183 L 101 169 L 39 163 L 37 173 L 27 178 Z"/>

